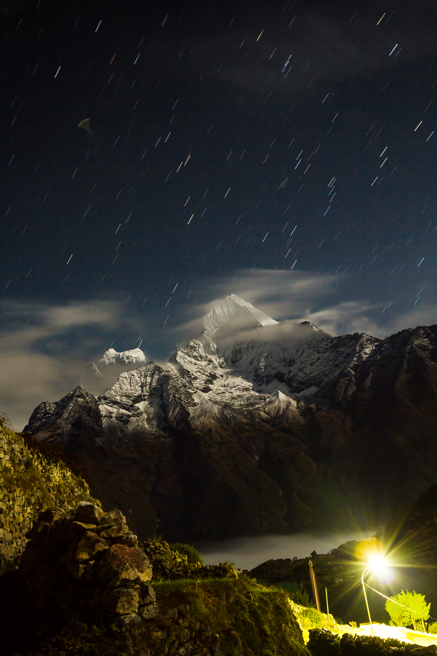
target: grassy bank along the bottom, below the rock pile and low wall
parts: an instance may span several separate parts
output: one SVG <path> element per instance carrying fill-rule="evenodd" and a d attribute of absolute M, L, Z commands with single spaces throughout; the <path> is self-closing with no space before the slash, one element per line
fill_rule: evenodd
<path fill-rule="evenodd" d="M 220 647 L 225 656 L 309 656 L 288 598 L 277 588 L 244 576 L 157 581 L 153 588 L 161 615 L 131 628 L 128 636 L 114 626 L 69 619 L 35 649 L 7 656 L 176 656 L 188 641 L 193 654 Z M 167 619 L 174 609 L 178 618 Z"/>

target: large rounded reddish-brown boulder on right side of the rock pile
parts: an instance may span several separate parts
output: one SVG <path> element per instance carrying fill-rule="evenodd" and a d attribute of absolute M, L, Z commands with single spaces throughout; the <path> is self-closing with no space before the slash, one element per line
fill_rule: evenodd
<path fill-rule="evenodd" d="M 147 583 L 152 567 L 145 553 L 138 546 L 113 544 L 98 565 L 102 583 L 117 587 L 122 583 Z"/>

